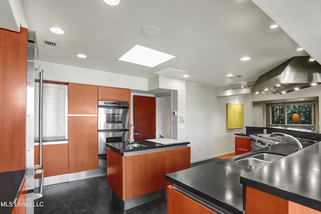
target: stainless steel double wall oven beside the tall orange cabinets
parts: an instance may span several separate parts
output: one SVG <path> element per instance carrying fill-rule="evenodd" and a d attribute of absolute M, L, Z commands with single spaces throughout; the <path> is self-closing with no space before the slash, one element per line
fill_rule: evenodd
<path fill-rule="evenodd" d="M 129 102 L 98 100 L 98 166 L 107 166 L 106 143 L 128 139 Z"/>

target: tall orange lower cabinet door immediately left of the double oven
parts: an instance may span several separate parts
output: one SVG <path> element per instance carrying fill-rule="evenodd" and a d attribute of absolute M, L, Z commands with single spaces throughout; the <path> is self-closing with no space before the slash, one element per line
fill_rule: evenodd
<path fill-rule="evenodd" d="M 98 169 L 97 116 L 70 116 L 69 173 Z"/>

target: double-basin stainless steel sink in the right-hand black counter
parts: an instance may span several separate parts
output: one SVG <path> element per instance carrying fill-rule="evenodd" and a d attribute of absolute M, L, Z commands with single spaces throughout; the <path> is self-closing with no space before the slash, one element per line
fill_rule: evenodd
<path fill-rule="evenodd" d="M 283 154 L 273 154 L 273 153 L 254 153 L 246 157 L 237 158 L 234 161 L 242 163 L 248 166 L 254 166 L 260 168 L 266 164 L 283 158 Z"/>

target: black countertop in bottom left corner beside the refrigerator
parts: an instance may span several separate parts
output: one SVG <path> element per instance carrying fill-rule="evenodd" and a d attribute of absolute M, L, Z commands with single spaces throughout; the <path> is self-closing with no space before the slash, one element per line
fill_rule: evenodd
<path fill-rule="evenodd" d="M 0 173 L 0 213 L 11 213 L 26 178 L 27 170 Z"/>

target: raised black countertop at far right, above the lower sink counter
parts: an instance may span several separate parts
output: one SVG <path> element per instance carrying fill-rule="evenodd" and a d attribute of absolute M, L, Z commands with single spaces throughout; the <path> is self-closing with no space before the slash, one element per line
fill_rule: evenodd
<path fill-rule="evenodd" d="M 321 144 L 244 174 L 240 182 L 321 211 Z"/>

